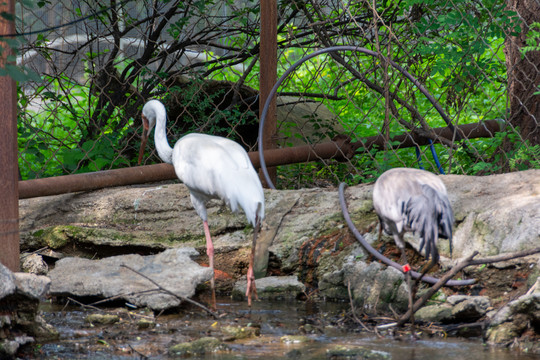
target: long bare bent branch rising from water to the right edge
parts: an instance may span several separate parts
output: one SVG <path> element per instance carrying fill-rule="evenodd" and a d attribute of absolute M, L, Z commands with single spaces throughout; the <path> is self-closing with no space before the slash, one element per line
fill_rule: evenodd
<path fill-rule="evenodd" d="M 473 260 L 473 258 L 478 255 L 478 251 L 473 252 L 471 255 L 467 256 L 465 259 L 460 261 L 456 266 L 454 266 L 448 273 L 446 273 L 435 285 L 433 285 L 424 295 L 422 295 L 413 306 L 413 312 L 418 311 L 432 296 L 435 294 L 441 287 L 443 287 L 448 280 L 450 280 L 452 277 L 454 277 L 458 272 L 466 268 L 467 266 L 472 265 L 484 265 L 484 264 L 490 264 L 495 262 L 501 262 L 501 261 L 508 261 L 512 259 L 517 259 L 529 255 L 534 255 L 540 253 L 540 247 L 530 249 L 530 250 L 523 250 L 518 251 L 511 254 L 502 254 L 502 255 L 495 255 L 495 256 L 489 256 L 483 259 L 477 259 Z M 411 317 L 411 311 L 410 309 L 403 315 L 399 321 L 397 322 L 397 326 L 403 325 L 405 322 L 409 320 Z"/>

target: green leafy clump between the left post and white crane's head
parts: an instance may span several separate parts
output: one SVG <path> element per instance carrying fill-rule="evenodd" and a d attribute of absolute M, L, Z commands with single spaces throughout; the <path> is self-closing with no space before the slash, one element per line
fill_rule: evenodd
<path fill-rule="evenodd" d="M 130 160 L 120 154 L 119 149 L 126 146 L 125 136 L 132 129 L 112 131 L 122 112 L 117 110 L 109 126 L 102 129 L 96 139 L 81 141 L 86 136 L 83 123 L 89 117 L 88 111 L 96 111 L 95 101 L 89 102 L 88 88 L 67 78 L 48 78 L 48 81 L 38 89 L 41 101 L 48 106 L 39 112 L 26 109 L 19 114 L 19 169 L 23 179 L 130 165 Z M 63 91 L 66 88 L 70 89 L 69 98 Z M 31 101 L 19 91 L 21 105 L 26 106 Z"/>

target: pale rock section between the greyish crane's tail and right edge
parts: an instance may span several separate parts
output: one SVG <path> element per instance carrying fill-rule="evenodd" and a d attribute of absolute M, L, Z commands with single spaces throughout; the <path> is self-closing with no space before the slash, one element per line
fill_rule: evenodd
<path fill-rule="evenodd" d="M 473 251 L 482 256 L 497 255 L 540 244 L 540 170 L 448 175 L 442 180 L 458 224 L 454 257 Z"/>

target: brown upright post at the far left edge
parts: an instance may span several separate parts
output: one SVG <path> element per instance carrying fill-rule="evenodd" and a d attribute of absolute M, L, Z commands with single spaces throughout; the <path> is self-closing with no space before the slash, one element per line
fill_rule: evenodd
<path fill-rule="evenodd" d="M 0 3 L 0 11 L 15 14 L 15 0 Z M 0 34 L 15 33 L 15 24 L 0 17 Z M 4 67 L 9 46 L 0 40 Z M 0 77 L 0 262 L 19 271 L 19 177 L 17 165 L 17 84 L 9 76 Z"/>

